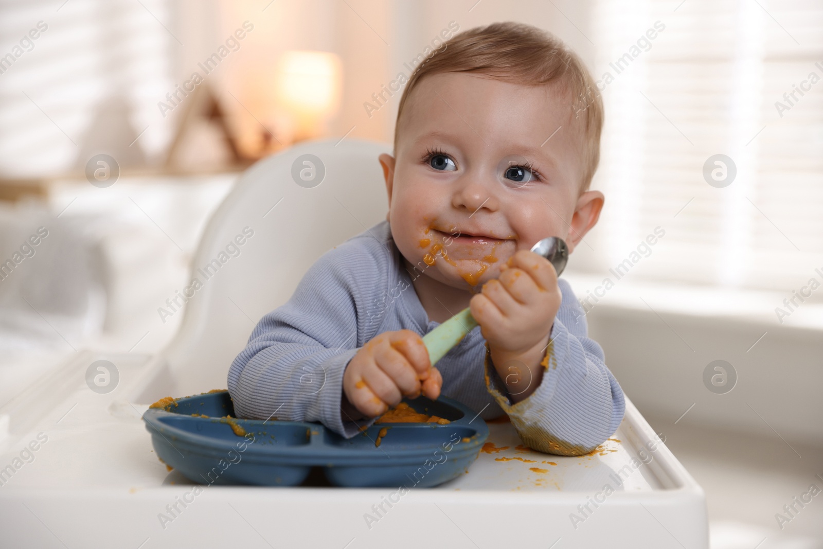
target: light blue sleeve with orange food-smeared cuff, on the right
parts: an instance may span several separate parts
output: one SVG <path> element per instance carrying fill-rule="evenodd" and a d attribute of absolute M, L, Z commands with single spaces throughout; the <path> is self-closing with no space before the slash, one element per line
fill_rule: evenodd
<path fill-rule="evenodd" d="M 568 282 L 559 283 L 563 300 L 537 389 L 513 405 L 491 361 L 488 342 L 483 368 L 487 390 L 509 414 L 524 444 L 546 454 L 582 455 L 617 430 L 625 398 L 604 362 L 602 348 L 587 337 L 586 317 Z"/>

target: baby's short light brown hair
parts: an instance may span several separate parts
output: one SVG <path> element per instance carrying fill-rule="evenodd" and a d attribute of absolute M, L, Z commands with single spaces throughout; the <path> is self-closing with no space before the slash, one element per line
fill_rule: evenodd
<path fill-rule="evenodd" d="M 545 30 L 506 21 L 465 30 L 447 40 L 412 73 L 403 90 L 394 128 L 394 150 L 403 106 L 415 86 L 426 76 L 441 72 L 477 72 L 487 77 L 527 86 L 557 82 L 573 98 L 570 109 L 574 119 L 583 121 L 585 170 L 581 193 L 592 182 L 600 161 L 600 133 L 603 104 L 597 86 L 577 54 Z M 548 136 L 546 136 L 548 137 Z"/>

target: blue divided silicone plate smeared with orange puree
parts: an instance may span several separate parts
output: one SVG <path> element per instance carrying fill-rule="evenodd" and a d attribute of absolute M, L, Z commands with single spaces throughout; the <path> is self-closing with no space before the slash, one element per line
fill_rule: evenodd
<path fill-rule="evenodd" d="M 308 421 L 227 421 L 228 391 L 177 398 L 143 419 L 158 457 L 194 482 L 296 486 L 319 467 L 335 486 L 411 488 L 467 471 L 489 436 L 486 422 L 451 398 L 403 402 L 451 423 L 379 423 L 345 439 Z"/>

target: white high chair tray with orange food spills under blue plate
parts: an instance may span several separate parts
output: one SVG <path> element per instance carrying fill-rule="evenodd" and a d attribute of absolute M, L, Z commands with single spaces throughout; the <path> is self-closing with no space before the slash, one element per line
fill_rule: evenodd
<path fill-rule="evenodd" d="M 120 370 L 108 395 L 91 393 L 83 378 L 99 358 Z M 72 390 L 47 384 L 21 395 L 30 400 L 8 420 L 40 419 L 6 440 L 0 467 L 13 467 L 39 433 L 47 440 L 0 478 L 3 547 L 419 547 L 431 539 L 504 547 L 513 537 L 533 547 L 708 547 L 702 489 L 630 402 L 603 451 L 582 457 L 517 450 L 514 428 L 490 423 L 489 441 L 509 448 L 481 452 L 467 473 L 435 488 L 202 482 L 194 493 L 156 458 L 141 417 L 148 403 L 128 396 L 168 380 L 166 368 L 146 356 L 81 353 L 55 376 Z"/>

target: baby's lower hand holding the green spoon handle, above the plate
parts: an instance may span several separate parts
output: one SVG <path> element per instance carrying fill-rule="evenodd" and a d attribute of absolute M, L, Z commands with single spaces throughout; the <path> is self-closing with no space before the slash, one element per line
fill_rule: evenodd
<path fill-rule="evenodd" d="M 366 343 L 343 374 L 343 393 L 366 417 L 379 416 L 404 396 L 434 400 L 443 378 L 431 367 L 429 351 L 412 330 L 384 332 Z"/>

